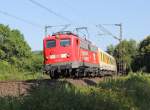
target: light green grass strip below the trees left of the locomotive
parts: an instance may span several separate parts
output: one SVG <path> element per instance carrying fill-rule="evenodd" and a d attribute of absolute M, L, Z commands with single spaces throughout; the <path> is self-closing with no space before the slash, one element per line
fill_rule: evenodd
<path fill-rule="evenodd" d="M 42 72 L 35 73 L 25 70 L 19 70 L 14 65 L 10 65 L 8 62 L 0 62 L 0 81 L 22 81 L 22 80 L 34 80 L 44 78 Z"/>

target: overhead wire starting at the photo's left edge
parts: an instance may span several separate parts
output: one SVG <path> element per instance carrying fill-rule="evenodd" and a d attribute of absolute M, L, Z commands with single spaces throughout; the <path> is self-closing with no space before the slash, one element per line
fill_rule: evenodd
<path fill-rule="evenodd" d="M 41 28 L 41 27 L 43 27 L 43 26 L 42 26 L 42 25 L 40 25 L 40 24 L 33 23 L 33 22 L 31 22 L 31 21 L 29 21 L 29 20 L 26 20 L 26 19 L 24 19 L 24 18 L 21 18 L 21 17 L 15 16 L 15 15 L 12 15 L 12 14 L 10 14 L 10 13 L 6 12 L 6 11 L 2 11 L 2 10 L 0 10 L 0 14 L 3 14 L 3 15 L 5 15 L 5 16 L 8 16 L 8 17 L 14 18 L 14 19 L 19 20 L 19 21 L 21 21 L 21 22 L 24 22 L 24 23 L 30 24 L 30 25 L 32 25 L 32 26 L 34 26 L 34 27 L 37 27 L 37 28 Z"/>

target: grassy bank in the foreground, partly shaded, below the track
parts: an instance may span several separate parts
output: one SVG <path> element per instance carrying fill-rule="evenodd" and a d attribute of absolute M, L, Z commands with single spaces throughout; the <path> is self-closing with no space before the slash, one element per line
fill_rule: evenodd
<path fill-rule="evenodd" d="M 60 82 L 40 85 L 24 97 L 3 97 L 1 110 L 150 110 L 150 76 L 129 75 L 96 87 Z"/>

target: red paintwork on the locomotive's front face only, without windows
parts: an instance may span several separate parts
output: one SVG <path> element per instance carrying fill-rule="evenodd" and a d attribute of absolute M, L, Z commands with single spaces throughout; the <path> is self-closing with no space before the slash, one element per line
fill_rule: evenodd
<path fill-rule="evenodd" d="M 67 47 L 62 47 L 60 46 L 60 39 L 66 39 L 69 38 L 71 40 L 70 46 Z M 47 40 L 56 40 L 56 47 L 53 48 L 46 48 L 46 41 Z M 74 61 L 75 58 L 75 51 L 74 49 L 75 44 L 74 44 L 75 36 L 72 35 L 59 35 L 59 38 L 56 38 L 56 36 L 48 36 L 47 38 L 44 39 L 44 63 L 45 64 L 53 64 L 53 63 L 59 63 L 59 62 L 69 62 L 69 61 Z M 68 53 L 69 57 L 68 58 L 61 58 L 61 54 Z M 55 59 L 46 59 L 50 55 L 56 55 Z"/>

